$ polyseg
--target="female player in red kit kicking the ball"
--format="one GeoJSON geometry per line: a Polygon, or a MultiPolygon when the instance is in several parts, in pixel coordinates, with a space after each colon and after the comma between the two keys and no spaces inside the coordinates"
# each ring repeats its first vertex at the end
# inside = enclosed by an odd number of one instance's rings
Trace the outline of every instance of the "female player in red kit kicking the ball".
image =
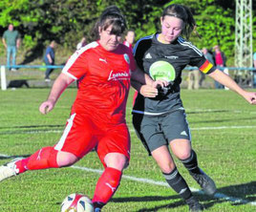
{"type": "Polygon", "coordinates": [[[0,167],[0,180],[27,170],[70,166],[96,148],[104,172],[97,180],[93,198],[100,211],[114,195],[122,170],[130,159],[130,135],[125,121],[130,79],[152,86],[148,96],[158,95],[157,84],[136,66],[131,50],[120,44],[125,19],[117,7],[102,12],[96,23],[97,41],[76,51],[53,84],[39,111],[47,114],[75,80],[78,92],[62,137],[31,157],[15,159],[0,167]]]}

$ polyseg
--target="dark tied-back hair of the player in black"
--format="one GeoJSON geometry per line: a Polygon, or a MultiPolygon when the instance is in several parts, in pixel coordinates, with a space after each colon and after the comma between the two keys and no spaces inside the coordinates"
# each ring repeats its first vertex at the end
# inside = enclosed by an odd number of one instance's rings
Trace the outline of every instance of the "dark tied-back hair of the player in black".
{"type": "Polygon", "coordinates": [[[164,18],[166,15],[178,17],[184,22],[184,28],[181,34],[187,39],[191,32],[196,30],[197,24],[189,8],[178,4],[172,4],[163,10],[161,17],[164,18]]]}

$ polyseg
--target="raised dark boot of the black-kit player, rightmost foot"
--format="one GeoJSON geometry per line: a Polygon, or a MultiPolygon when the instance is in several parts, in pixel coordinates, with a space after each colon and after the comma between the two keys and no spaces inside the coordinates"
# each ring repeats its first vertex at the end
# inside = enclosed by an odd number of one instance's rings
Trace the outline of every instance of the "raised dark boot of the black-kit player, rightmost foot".
{"type": "Polygon", "coordinates": [[[207,176],[202,169],[200,171],[200,174],[190,173],[190,175],[200,184],[206,195],[214,195],[217,190],[214,180],[207,176]]]}

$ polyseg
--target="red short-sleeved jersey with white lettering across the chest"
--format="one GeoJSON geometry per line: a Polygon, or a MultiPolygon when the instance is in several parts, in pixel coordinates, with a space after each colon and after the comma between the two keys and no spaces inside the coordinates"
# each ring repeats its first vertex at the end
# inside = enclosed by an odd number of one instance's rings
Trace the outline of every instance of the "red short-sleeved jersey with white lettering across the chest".
{"type": "Polygon", "coordinates": [[[132,52],[122,44],[115,52],[106,51],[98,42],[76,51],[62,70],[78,81],[72,113],[88,114],[96,122],[124,122],[135,69],[132,52]]]}

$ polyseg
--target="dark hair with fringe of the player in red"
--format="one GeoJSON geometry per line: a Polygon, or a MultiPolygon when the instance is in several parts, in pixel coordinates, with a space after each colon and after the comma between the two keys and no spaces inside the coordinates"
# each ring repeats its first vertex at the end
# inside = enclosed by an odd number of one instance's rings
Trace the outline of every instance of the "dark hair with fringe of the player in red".
{"type": "Polygon", "coordinates": [[[95,38],[99,38],[99,27],[105,31],[111,25],[113,26],[111,33],[119,36],[126,29],[125,18],[122,15],[121,11],[117,8],[117,6],[110,6],[102,11],[93,29],[93,35],[95,36],[95,38]]]}

